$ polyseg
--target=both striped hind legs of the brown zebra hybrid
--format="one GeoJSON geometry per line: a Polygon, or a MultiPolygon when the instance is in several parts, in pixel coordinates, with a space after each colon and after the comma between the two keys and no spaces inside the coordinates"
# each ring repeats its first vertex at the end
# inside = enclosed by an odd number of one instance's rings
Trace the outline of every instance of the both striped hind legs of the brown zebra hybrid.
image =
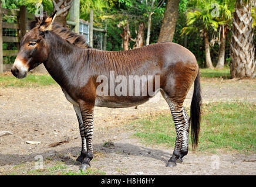
{"type": "MultiPolygon", "coordinates": [[[[188,121],[185,119],[183,101],[175,102],[173,101],[166,92],[161,91],[164,99],[168,103],[171,115],[176,129],[176,143],[173,151],[173,155],[167,163],[167,167],[176,166],[176,161],[182,162],[182,158],[187,154],[187,140],[188,140],[188,121]]],[[[186,112],[186,111],[185,111],[186,112]]]]}

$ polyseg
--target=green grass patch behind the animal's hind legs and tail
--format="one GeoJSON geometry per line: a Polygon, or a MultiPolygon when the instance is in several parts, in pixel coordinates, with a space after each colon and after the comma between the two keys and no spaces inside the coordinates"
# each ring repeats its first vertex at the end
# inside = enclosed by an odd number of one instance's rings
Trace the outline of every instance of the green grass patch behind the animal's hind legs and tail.
{"type": "MultiPolygon", "coordinates": [[[[176,131],[170,113],[155,119],[147,117],[137,120],[132,123],[132,128],[136,131],[135,136],[146,144],[174,147],[176,131]]],[[[218,149],[256,153],[255,103],[220,102],[203,105],[198,150],[213,153],[218,149]]]]}

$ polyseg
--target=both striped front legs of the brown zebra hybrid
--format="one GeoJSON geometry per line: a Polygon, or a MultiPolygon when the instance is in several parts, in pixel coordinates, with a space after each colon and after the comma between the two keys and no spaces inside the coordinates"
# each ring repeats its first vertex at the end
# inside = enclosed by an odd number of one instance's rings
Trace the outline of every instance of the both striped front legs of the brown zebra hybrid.
{"type": "Polygon", "coordinates": [[[82,150],[76,161],[82,163],[80,169],[90,167],[90,160],[93,158],[92,136],[93,136],[93,107],[87,105],[74,105],[78,116],[80,135],[82,139],[82,150]],[[82,106],[82,107],[81,107],[82,106]]]}

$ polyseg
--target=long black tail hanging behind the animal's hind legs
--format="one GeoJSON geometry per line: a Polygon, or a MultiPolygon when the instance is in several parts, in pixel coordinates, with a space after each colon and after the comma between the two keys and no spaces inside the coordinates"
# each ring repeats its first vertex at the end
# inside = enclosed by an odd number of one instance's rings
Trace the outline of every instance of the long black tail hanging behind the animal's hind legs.
{"type": "Polygon", "coordinates": [[[198,136],[200,133],[200,119],[201,119],[201,84],[200,84],[200,71],[198,69],[197,77],[194,81],[194,93],[190,106],[190,120],[191,120],[191,140],[192,148],[196,149],[198,144],[198,136]]]}

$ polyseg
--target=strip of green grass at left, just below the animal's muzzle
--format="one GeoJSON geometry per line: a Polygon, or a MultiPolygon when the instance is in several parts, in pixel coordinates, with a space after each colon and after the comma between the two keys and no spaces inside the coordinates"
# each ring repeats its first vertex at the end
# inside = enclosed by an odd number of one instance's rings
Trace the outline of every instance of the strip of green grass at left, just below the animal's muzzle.
{"type": "Polygon", "coordinates": [[[56,82],[50,75],[28,74],[28,76],[23,79],[18,79],[13,75],[0,75],[0,87],[37,87],[54,84],[56,84],[56,82]]]}

